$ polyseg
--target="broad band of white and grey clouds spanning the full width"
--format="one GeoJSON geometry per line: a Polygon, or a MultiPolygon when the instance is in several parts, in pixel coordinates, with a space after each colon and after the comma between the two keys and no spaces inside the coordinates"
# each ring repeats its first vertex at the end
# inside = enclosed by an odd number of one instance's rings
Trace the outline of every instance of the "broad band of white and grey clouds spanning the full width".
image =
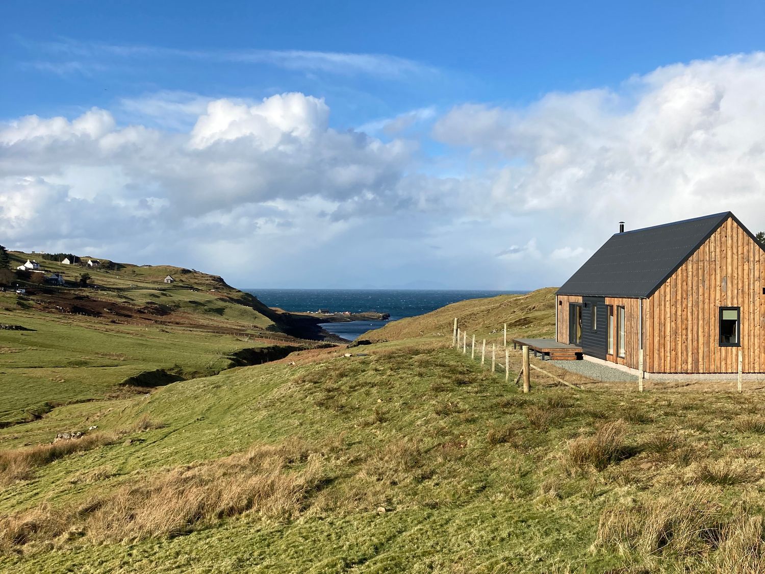
{"type": "Polygon", "coordinates": [[[327,102],[302,93],[148,94],[120,101],[127,125],[104,109],[27,116],[0,125],[0,235],[233,266],[240,285],[274,274],[277,286],[380,284],[382,272],[398,274],[386,284],[554,285],[620,220],[730,209],[765,228],[763,90],[765,54],[750,54],[522,108],[417,109],[358,131],[334,129],[327,102]],[[412,126],[431,123],[415,141],[412,126]]]}

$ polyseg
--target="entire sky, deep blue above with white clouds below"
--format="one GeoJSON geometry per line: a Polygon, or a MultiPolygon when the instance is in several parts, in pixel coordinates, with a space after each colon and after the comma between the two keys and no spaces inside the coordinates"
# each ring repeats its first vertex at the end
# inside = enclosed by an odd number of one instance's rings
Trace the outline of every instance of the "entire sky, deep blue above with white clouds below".
{"type": "Polygon", "coordinates": [[[765,227],[762,2],[2,11],[11,246],[240,286],[522,289],[620,219],[765,227]]]}

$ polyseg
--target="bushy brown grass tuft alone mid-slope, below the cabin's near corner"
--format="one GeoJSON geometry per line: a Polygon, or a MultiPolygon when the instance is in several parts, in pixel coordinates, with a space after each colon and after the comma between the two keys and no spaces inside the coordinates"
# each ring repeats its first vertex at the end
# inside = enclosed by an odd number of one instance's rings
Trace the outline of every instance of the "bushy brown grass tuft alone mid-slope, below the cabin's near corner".
{"type": "Polygon", "coordinates": [[[566,463],[576,470],[595,468],[602,471],[630,455],[624,441],[627,424],[623,420],[605,422],[592,436],[580,436],[568,442],[566,463]]]}

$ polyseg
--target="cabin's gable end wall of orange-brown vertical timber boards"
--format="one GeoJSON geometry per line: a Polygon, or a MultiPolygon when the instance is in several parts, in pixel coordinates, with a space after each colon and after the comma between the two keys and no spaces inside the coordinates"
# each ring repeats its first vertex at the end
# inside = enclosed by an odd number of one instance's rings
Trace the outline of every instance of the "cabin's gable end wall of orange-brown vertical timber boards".
{"type": "Polygon", "coordinates": [[[732,218],[643,304],[652,373],[765,372],[765,252],[732,218]],[[720,307],[741,308],[741,347],[720,347],[720,307]]]}

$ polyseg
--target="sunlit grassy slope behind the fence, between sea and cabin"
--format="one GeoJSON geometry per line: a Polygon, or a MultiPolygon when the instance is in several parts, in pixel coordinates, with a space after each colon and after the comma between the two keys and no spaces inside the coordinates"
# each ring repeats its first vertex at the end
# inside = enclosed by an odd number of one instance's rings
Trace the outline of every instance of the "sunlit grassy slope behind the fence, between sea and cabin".
{"type": "Polygon", "coordinates": [[[454,318],[460,328],[480,338],[496,338],[507,324],[507,337],[552,337],[555,335],[555,288],[537,289],[526,295],[468,299],[446,305],[425,315],[393,321],[359,339],[399,341],[407,338],[451,339],[454,318]]]}

